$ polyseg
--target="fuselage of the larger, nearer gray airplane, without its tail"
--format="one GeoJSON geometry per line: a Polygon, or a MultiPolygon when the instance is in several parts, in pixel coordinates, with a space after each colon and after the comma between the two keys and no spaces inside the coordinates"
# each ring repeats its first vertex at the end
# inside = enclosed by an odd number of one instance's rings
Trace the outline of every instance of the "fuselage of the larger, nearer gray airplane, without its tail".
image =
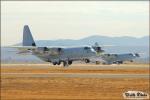
{"type": "Polygon", "coordinates": [[[91,47],[53,48],[53,50],[38,47],[33,49],[32,53],[44,61],[52,62],[54,65],[59,65],[61,62],[72,64],[72,61],[86,60],[86,58],[96,55],[91,47]]]}

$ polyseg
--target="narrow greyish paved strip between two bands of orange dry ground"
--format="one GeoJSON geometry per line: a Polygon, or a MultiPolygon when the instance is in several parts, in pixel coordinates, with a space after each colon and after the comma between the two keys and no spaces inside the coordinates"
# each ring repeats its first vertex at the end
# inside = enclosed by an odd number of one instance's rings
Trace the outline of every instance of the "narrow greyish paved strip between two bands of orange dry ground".
{"type": "Polygon", "coordinates": [[[149,78],[149,74],[102,74],[102,73],[1,73],[5,77],[24,78],[149,78]]]}

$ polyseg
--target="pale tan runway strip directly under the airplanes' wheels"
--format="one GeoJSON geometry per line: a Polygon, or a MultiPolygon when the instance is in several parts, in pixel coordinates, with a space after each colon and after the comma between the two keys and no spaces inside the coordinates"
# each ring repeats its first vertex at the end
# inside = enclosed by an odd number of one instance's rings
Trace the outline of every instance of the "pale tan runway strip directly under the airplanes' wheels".
{"type": "Polygon", "coordinates": [[[54,69],[86,69],[86,70],[101,70],[101,69],[106,69],[106,70],[116,70],[116,69],[146,69],[149,70],[149,65],[148,64],[112,64],[112,65],[93,65],[93,64],[73,64],[69,67],[63,67],[63,66],[54,66],[51,64],[2,64],[2,68],[32,68],[32,69],[37,69],[37,68],[42,68],[42,69],[47,69],[47,68],[54,68],[54,69]]]}

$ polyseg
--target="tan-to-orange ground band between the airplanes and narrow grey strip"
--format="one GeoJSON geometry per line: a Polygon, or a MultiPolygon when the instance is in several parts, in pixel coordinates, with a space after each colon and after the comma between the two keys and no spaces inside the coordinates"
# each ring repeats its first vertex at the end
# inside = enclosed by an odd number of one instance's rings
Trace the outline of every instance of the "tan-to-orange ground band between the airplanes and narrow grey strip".
{"type": "Polygon", "coordinates": [[[148,64],[93,65],[74,64],[70,67],[50,64],[2,64],[3,73],[116,73],[149,74],[148,64]]]}

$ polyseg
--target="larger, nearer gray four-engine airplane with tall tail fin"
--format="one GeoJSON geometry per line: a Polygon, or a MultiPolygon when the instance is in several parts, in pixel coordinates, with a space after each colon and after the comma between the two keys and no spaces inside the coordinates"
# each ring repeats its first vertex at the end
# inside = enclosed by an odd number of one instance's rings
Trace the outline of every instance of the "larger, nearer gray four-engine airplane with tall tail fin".
{"type": "MultiPolygon", "coordinates": [[[[28,25],[25,25],[23,29],[22,45],[22,47],[17,47],[20,50],[19,54],[30,52],[46,62],[53,63],[53,65],[63,63],[63,66],[71,65],[73,61],[77,60],[84,60],[88,63],[90,61],[87,58],[95,56],[94,49],[97,49],[90,46],[70,48],[36,46],[28,25]]],[[[97,50],[101,51],[100,48],[97,50]]]]}

